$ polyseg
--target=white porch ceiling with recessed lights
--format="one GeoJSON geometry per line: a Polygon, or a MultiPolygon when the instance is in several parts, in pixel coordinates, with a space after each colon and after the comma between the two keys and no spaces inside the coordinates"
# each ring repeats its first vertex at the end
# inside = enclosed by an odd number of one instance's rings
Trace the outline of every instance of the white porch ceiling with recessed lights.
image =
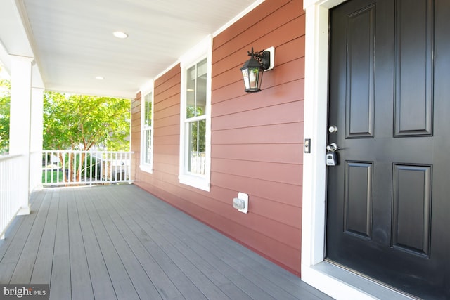
{"type": "Polygon", "coordinates": [[[34,85],[47,90],[134,98],[262,1],[1,0],[0,60],[9,69],[10,55],[34,57],[34,85]],[[117,39],[117,30],[129,37],[117,39]]]}

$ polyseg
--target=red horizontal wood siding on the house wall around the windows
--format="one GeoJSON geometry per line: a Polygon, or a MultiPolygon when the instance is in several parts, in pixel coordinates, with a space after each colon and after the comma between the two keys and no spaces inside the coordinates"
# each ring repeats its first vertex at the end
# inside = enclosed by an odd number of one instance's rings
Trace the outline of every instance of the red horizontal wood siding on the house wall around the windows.
{"type": "MultiPolygon", "coordinates": [[[[207,193],[179,183],[180,67],[155,80],[153,174],[136,185],[300,275],[304,11],[299,0],[266,0],[213,40],[212,162],[207,193]],[[240,67],[252,46],[275,47],[262,92],[245,93],[240,67]],[[249,194],[249,212],[231,203],[249,194]]],[[[139,159],[140,94],[131,147],[139,159]]]]}

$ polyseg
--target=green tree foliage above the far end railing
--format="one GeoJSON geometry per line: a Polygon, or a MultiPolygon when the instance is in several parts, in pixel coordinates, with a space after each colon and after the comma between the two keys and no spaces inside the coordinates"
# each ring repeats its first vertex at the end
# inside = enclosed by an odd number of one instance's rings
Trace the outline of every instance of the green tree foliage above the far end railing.
{"type": "Polygon", "coordinates": [[[130,100],[44,93],[44,149],[129,151],[130,100]]]}

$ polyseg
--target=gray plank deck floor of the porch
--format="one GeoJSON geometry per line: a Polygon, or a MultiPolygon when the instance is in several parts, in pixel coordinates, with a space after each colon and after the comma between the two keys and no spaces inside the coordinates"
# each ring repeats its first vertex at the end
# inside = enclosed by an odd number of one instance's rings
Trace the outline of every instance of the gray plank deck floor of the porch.
{"type": "Polygon", "coordinates": [[[0,240],[0,284],[50,299],[330,299],[134,185],[32,195],[0,240]]]}

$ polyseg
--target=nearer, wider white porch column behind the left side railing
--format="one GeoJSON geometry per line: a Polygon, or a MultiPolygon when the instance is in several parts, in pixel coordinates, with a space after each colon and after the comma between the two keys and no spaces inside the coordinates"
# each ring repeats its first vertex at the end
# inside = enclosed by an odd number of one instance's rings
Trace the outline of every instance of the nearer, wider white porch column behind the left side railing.
{"type": "Polygon", "coordinates": [[[23,155],[23,179],[15,183],[20,214],[30,214],[31,84],[34,58],[11,56],[11,108],[9,152],[23,155]]]}

